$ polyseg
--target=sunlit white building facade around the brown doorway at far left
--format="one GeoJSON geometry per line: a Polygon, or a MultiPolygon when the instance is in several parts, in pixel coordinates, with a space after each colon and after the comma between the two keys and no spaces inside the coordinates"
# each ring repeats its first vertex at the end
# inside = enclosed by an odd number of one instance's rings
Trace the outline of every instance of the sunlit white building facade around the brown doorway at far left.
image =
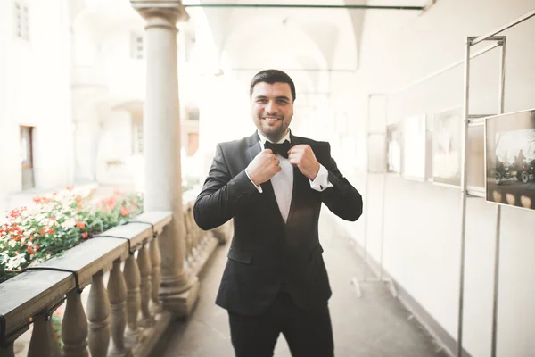
{"type": "Polygon", "coordinates": [[[29,1],[29,41],[16,37],[14,4],[0,4],[2,195],[21,190],[20,125],[35,127],[36,187],[70,183],[70,32],[65,2],[29,1]]]}

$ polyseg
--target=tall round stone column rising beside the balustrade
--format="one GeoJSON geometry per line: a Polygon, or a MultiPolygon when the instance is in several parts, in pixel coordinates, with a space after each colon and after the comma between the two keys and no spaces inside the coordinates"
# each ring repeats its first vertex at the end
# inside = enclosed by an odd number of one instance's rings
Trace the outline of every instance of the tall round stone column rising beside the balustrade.
{"type": "Polygon", "coordinates": [[[158,238],[160,299],[164,309],[186,317],[199,294],[199,281],[185,266],[185,228],[180,170],[177,21],[188,15],[177,0],[130,0],[145,27],[147,92],[144,106],[144,210],[172,211],[174,219],[158,238]]]}

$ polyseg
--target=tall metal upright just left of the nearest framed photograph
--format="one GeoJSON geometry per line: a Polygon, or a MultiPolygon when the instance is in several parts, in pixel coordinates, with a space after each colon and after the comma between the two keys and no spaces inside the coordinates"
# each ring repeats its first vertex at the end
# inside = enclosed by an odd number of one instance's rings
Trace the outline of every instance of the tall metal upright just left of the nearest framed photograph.
{"type": "Polygon", "coordinates": [[[466,237],[466,139],[468,133],[468,112],[469,112],[469,96],[470,96],[470,46],[473,38],[466,37],[465,41],[465,97],[463,99],[464,114],[463,114],[463,131],[462,131],[462,165],[461,165],[461,256],[460,256],[460,276],[459,276],[459,311],[457,322],[457,357],[463,356],[463,313],[465,307],[465,237],[466,237]]]}

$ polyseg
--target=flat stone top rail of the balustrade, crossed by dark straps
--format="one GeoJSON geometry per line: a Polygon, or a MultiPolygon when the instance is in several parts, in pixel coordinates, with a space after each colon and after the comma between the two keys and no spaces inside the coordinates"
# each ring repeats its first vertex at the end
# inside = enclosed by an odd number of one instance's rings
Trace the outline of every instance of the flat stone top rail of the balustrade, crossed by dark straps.
{"type": "MultiPolygon", "coordinates": [[[[151,222],[154,229],[161,232],[172,220],[172,213],[147,212],[139,215],[136,220],[151,222]]],[[[128,224],[108,229],[103,235],[127,237],[134,250],[152,239],[152,227],[147,224],[128,224]]],[[[97,271],[110,270],[112,262],[127,257],[128,242],[125,240],[92,238],[70,248],[61,257],[53,257],[38,266],[77,271],[79,285],[83,288],[91,283],[91,278],[97,271]]],[[[51,309],[75,287],[75,278],[70,272],[51,270],[27,271],[4,281],[0,284],[0,314],[5,318],[5,330],[0,331],[0,343],[3,342],[3,336],[27,329],[29,317],[51,309]]]]}

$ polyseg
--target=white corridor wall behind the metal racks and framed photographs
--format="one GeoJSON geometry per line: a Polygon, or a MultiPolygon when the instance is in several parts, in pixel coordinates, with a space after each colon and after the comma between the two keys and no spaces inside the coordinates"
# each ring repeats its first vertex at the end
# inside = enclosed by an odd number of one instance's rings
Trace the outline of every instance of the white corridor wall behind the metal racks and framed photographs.
{"type": "MultiPolygon", "coordinates": [[[[368,4],[385,4],[372,1],[368,4]]],[[[393,90],[432,71],[460,61],[466,36],[481,36],[531,11],[527,0],[440,0],[428,12],[369,11],[365,14],[355,82],[336,87],[335,96],[350,90],[357,138],[350,179],[364,191],[367,95],[393,90]],[[354,176],[353,176],[354,175],[354,176]]],[[[535,19],[502,35],[507,37],[505,111],[535,107],[535,19]]],[[[485,45],[483,45],[485,46],[485,45]]],[[[475,47],[474,50],[482,48],[475,47]]],[[[471,113],[495,113],[498,103],[498,54],[472,62],[471,113]]],[[[462,105],[462,69],[449,71],[410,90],[392,95],[388,122],[408,115],[432,115],[462,105]]],[[[383,120],[372,129],[383,130],[383,120]]],[[[469,170],[473,170],[470,169],[469,170]]],[[[457,339],[461,195],[458,189],[384,177],[384,267],[424,309],[457,339]]],[[[365,197],[368,248],[379,261],[383,176],[369,178],[365,197]]],[[[498,356],[535,355],[535,228],[534,212],[502,209],[498,356]]],[[[465,349],[473,356],[490,355],[493,258],[496,207],[480,198],[467,201],[465,267],[465,349]]],[[[364,220],[344,224],[362,244],[364,220]]]]}

